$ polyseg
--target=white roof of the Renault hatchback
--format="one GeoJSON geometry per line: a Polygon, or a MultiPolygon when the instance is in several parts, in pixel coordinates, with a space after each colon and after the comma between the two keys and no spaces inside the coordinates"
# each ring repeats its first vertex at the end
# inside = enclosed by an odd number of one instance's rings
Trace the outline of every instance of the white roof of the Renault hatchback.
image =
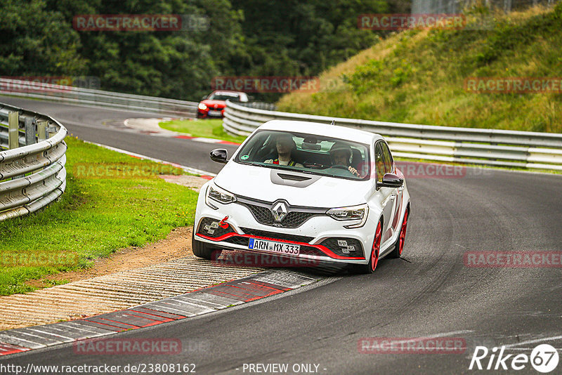
{"type": "Polygon", "coordinates": [[[329,136],[344,140],[352,140],[357,143],[369,144],[373,143],[375,140],[383,139],[380,134],[371,133],[370,131],[310,121],[271,120],[262,124],[259,129],[316,134],[318,136],[329,136]]]}

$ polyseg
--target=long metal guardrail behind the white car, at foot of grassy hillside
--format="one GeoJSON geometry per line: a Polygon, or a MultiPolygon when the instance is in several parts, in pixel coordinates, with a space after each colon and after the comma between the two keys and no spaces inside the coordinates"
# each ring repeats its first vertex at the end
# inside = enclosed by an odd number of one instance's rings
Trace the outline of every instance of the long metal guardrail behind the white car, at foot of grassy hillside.
{"type": "Polygon", "coordinates": [[[223,128],[247,136],[273,119],[336,124],[379,133],[396,157],[562,171],[562,134],[399,124],[257,110],[227,101],[223,128]]]}

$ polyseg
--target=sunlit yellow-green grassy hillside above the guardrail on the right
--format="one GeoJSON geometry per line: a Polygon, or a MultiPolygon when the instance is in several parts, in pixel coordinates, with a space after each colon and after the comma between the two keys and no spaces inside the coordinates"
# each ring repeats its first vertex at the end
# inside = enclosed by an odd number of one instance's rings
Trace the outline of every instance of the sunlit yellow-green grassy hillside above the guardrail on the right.
{"type": "Polygon", "coordinates": [[[468,77],[562,77],[562,4],[497,16],[485,30],[407,30],[291,93],[279,110],[412,124],[562,132],[562,95],[473,93],[468,77]]]}

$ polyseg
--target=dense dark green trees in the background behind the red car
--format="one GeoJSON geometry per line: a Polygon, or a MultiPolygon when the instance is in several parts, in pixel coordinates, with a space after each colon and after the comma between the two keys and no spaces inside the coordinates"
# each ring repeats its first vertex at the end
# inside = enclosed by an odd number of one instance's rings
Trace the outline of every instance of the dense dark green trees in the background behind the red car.
{"type": "MultiPolygon", "coordinates": [[[[361,13],[403,0],[4,0],[1,76],[92,76],[110,91],[198,100],[228,75],[313,75],[377,40],[361,13]],[[76,15],[207,17],[206,30],[77,31],[76,15]]],[[[391,4],[391,5],[389,5],[391,4]]]]}

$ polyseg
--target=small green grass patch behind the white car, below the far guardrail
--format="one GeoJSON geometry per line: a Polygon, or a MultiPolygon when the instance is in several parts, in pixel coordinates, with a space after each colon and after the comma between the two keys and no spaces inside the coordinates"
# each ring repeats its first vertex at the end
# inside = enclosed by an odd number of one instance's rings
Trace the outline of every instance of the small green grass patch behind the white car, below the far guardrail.
{"type": "Polygon", "coordinates": [[[193,137],[215,138],[234,143],[242,143],[246,139],[226,133],[221,119],[173,120],[160,122],[159,125],[162,129],[187,133],[193,137]]]}

